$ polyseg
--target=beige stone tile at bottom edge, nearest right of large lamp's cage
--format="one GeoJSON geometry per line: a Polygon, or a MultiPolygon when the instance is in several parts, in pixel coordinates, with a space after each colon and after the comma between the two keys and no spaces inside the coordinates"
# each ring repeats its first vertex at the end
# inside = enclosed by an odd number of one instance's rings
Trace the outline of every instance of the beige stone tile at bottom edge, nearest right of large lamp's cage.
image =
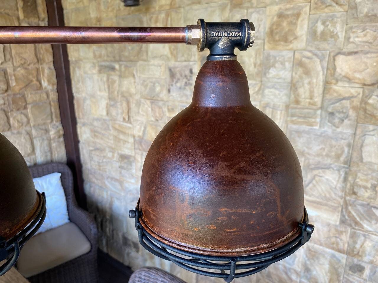
{"type": "Polygon", "coordinates": [[[307,282],[341,282],[345,261],[344,254],[307,243],[301,278],[307,282]]]}

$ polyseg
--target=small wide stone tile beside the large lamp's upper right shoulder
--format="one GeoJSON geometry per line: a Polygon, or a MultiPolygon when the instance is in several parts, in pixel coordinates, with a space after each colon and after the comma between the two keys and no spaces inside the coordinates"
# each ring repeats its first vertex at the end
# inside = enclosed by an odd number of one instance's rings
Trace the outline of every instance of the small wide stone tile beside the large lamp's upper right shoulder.
{"type": "Polygon", "coordinates": [[[316,106],[290,105],[288,123],[318,128],[320,112],[320,108],[316,106]]]}

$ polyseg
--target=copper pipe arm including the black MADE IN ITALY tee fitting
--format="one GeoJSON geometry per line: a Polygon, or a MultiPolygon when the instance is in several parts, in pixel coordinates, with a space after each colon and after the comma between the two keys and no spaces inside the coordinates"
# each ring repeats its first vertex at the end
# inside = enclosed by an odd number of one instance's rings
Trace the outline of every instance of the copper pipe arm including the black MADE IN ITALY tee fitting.
{"type": "Polygon", "coordinates": [[[208,60],[236,60],[234,49],[244,51],[255,40],[255,28],[247,19],[230,23],[206,23],[185,27],[79,27],[0,26],[0,44],[9,43],[186,43],[198,51],[210,50],[208,60]]]}

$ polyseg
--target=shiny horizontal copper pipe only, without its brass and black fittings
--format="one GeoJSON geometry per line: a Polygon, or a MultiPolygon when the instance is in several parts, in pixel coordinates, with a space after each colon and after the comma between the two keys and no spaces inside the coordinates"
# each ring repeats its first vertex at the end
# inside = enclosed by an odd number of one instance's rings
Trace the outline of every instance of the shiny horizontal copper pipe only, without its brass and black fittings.
{"type": "Polygon", "coordinates": [[[1,26],[0,43],[186,43],[187,27],[1,26]]]}

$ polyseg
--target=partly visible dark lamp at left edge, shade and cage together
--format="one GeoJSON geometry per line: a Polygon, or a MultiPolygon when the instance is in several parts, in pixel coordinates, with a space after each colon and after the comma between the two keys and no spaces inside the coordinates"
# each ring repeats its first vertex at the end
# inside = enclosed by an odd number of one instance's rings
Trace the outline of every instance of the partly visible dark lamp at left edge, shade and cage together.
{"type": "Polygon", "coordinates": [[[20,248],[46,217],[45,196],[34,187],[21,153],[0,134],[0,276],[17,261],[20,248]]]}

